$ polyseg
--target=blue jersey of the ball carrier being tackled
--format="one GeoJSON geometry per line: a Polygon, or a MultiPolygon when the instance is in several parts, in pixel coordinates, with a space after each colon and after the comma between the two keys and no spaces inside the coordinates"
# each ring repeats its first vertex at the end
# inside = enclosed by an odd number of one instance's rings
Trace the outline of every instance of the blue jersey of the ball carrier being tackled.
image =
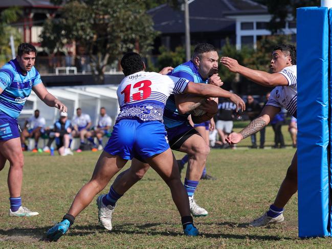
{"type": "MultiPolygon", "coordinates": [[[[168,75],[185,78],[195,83],[208,83],[208,79],[203,79],[198,73],[195,64],[189,60],[186,63],[178,65],[168,75]]],[[[175,105],[174,95],[169,96],[164,111],[164,124],[166,128],[173,128],[187,122],[188,114],[180,114],[175,105]]]]}

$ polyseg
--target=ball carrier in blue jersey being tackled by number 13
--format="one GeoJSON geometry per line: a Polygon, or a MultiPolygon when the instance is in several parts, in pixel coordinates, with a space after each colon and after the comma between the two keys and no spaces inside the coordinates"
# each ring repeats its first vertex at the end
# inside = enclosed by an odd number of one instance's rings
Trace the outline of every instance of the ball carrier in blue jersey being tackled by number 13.
{"type": "MultiPolygon", "coordinates": [[[[223,84],[217,75],[218,53],[208,43],[196,46],[192,59],[175,67],[168,75],[185,78],[195,83],[210,83],[216,86],[223,84]],[[210,77],[211,76],[211,77],[210,77]]],[[[231,100],[232,101],[232,100],[231,100]]],[[[193,198],[194,192],[205,168],[210,147],[202,136],[189,124],[189,112],[200,106],[207,111],[203,116],[192,116],[195,124],[200,124],[217,113],[217,102],[200,96],[175,94],[167,99],[163,120],[166,127],[170,148],[188,154],[189,161],[184,185],[190,203],[191,214],[195,217],[206,216],[208,212],[197,205],[193,198]]],[[[131,186],[140,180],[149,169],[137,159],[132,160],[128,170],[122,172],[111,187],[111,192],[119,199],[131,186]],[[122,185],[118,179],[123,178],[122,185]]],[[[116,201],[114,201],[115,204],[116,201]]]]}

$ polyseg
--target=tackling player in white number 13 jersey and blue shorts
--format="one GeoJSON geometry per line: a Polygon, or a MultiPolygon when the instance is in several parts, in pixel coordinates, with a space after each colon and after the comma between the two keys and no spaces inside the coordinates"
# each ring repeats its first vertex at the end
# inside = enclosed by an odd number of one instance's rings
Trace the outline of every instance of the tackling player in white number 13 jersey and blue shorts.
{"type": "MultiPolygon", "coordinates": [[[[226,97],[237,107],[244,109],[244,101],[237,95],[208,84],[190,82],[184,78],[144,72],[145,65],[137,53],[127,53],[121,59],[126,76],[120,83],[117,95],[120,113],[96,164],[90,182],[77,193],[71,208],[62,221],[47,232],[50,240],[57,240],[74,223],[75,217],[85,209],[96,194],[105,188],[109,180],[133,157],[146,161],[163,178],[170,188],[173,201],[181,215],[184,233],[198,235],[193,226],[187,192],[181,182],[178,165],[169,147],[163,124],[163,112],[170,94],[189,93],[206,97],[226,97]]],[[[167,69],[166,69],[167,70],[167,69]]],[[[120,179],[123,184],[123,179],[120,179]]],[[[97,199],[99,221],[112,230],[114,193],[100,195],[97,199]]]]}

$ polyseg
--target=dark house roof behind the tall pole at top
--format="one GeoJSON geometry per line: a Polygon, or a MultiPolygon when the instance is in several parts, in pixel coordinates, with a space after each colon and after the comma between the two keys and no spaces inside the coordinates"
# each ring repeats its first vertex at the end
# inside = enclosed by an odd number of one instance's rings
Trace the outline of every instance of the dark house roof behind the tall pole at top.
{"type": "MultiPolygon", "coordinates": [[[[154,21],[154,29],[162,33],[184,33],[184,11],[167,4],[147,11],[154,21]]],[[[268,14],[266,6],[251,0],[191,0],[189,1],[190,32],[228,32],[235,29],[235,21],[228,15],[268,14]]]]}

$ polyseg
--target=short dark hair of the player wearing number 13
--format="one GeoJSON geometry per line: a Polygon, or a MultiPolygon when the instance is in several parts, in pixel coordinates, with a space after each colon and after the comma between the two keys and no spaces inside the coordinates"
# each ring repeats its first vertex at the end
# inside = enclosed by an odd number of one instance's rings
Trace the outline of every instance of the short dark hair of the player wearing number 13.
{"type": "Polygon", "coordinates": [[[142,57],[135,52],[126,53],[122,57],[120,64],[125,76],[144,70],[144,62],[142,61],[142,57]]]}

